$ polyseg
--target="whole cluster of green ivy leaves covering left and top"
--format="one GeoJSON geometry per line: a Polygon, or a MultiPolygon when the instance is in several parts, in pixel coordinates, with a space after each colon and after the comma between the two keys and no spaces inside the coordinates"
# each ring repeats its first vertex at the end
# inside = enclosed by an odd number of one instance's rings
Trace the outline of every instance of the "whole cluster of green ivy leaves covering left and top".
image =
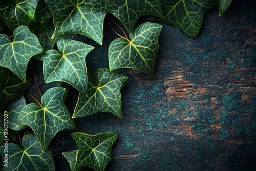
{"type": "MultiPolygon", "coordinates": [[[[157,22],[174,24],[195,37],[205,11],[220,5],[222,15],[230,3],[231,0],[1,0],[0,32],[12,33],[0,34],[0,143],[9,139],[8,167],[5,145],[0,147],[1,169],[55,170],[48,146],[57,132],[75,129],[73,118],[96,112],[122,118],[120,89],[127,77],[114,70],[130,68],[150,76],[155,72],[162,26],[149,22],[135,26],[140,16],[153,15],[157,22]],[[73,40],[70,35],[87,36],[101,45],[103,20],[108,13],[123,24],[129,36],[117,33],[120,38],[109,45],[109,68],[91,73],[85,58],[94,47],[73,40]],[[66,89],[62,87],[47,90],[40,100],[35,99],[37,103],[26,103],[24,93],[33,80],[27,76],[31,58],[43,62],[46,83],[66,82],[79,91],[73,115],[63,103],[66,89]],[[8,135],[4,130],[7,118],[8,135]],[[28,127],[31,131],[24,133],[19,145],[11,143],[18,132],[28,127]]],[[[72,170],[83,166],[104,170],[112,161],[115,133],[73,133],[72,137],[78,149],[63,153],[72,170]]]]}

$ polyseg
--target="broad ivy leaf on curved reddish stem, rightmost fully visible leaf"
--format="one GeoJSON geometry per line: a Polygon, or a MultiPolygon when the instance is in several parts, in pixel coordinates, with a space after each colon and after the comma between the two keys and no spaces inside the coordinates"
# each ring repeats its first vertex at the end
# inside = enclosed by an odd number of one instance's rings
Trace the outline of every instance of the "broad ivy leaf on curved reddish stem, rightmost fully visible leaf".
{"type": "Polygon", "coordinates": [[[132,68],[153,76],[162,26],[143,23],[130,34],[131,40],[117,38],[109,47],[110,70],[132,68]]]}

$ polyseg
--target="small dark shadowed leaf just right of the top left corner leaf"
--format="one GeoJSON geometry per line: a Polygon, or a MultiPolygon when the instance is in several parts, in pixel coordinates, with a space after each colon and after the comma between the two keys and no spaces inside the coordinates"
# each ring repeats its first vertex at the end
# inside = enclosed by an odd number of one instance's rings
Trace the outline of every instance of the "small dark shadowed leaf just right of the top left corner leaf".
{"type": "Polygon", "coordinates": [[[47,6],[44,0],[38,1],[35,10],[35,16],[36,20],[39,21],[40,24],[43,24],[48,19],[52,18],[52,12],[50,11],[49,7],[47,6]]]}

